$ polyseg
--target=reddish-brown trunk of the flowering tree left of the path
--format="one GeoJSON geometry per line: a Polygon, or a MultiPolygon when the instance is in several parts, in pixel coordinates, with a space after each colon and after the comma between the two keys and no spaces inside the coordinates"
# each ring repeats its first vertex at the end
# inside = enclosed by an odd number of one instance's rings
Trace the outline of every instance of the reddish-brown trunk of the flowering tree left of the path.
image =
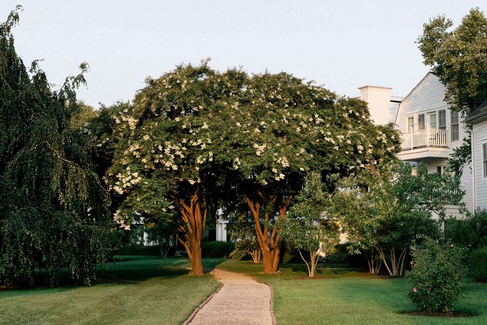
{"type": "Polygon", "coordinates": [[[191,260],[190,276],[203,276],[203,265],[201,264],[201,240],[203,239],[203,231],[205,230],[206,217],[208,215],[208,208],[203,198],[203,215],[201,214],[201,205],[198,197],[198,191],[193,194],[189,205],[182,199],[174,201],[179,203],[182,224],[179,226],[179,232],[183,234],[181,238],[178,236],[179,242],[184,246],[188,257],[191,260]]]}

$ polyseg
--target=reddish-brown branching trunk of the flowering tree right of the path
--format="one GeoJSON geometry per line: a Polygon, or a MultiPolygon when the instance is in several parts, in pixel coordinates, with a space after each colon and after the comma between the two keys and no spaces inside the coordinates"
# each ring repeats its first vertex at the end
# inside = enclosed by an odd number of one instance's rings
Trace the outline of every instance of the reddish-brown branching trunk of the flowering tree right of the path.
{"type": "MultiPolygon", "coordinates": [[[[259,194],[263,199],[262,194],[259,194]]],[[[265,201],[261,205],[260,202],[253,202],[248,197],[245,198],[248,207],[251,209],[253,219],[255,221],[255,234],[259,242],[260,250],[262,252],[262,264],[264,266],[264,273],[273,274],[277,273],[277,267],[279,266],[279,254],[281,252],[281,236],[277,232],[277,228],[272,228],[272,232],[269,233],[269,221],[270,211],[267,208],[264,210],[265,220],[260,220],[260,208],[262,206],[273,206],[276,201],[276,196],[272,196],[270,200],[265,201]]],[[[286,203],[279,206],[279,219],[286,218],[287,205],[291,201],[291,196],[287,199],[286,203]]]]}

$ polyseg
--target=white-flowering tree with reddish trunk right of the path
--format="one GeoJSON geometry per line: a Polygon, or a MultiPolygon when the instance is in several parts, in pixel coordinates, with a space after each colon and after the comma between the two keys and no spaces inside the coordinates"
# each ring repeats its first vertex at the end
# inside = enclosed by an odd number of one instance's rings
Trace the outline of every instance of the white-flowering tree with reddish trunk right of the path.
{"type": "Polygon", "coordinates": [[[223,103],[225,150],[217,160],[230,167],[227,180],[253,215],[265,273],[275,273],[281,244],[275,221],[286,218],[306,174],[322,172],[333,187],[332,175],[394,159],[399,139],[373,125],[365,102],[337,98],[287,73],[247,77],[239,92],[223,103]]]}

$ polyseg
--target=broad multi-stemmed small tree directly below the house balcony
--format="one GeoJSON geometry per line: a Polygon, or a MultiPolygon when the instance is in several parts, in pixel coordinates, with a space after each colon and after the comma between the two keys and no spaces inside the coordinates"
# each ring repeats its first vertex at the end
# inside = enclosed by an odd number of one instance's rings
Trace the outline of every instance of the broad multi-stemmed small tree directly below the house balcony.
{"type": "Polygon", "coordinates": [[[419,165],[415,173],[402,162],[368,169],[343,179],[332,196],[330,213],[344,216],[344,232],[352,253],[368,252],[369,271],[384,265],[391,276],[402,276],[411,244],[424,236],[438,237],[447,204],[461,204],[458,177],[428,173],[419,165]],[[379,264],[377,257],[380,258],[379,264]]]}

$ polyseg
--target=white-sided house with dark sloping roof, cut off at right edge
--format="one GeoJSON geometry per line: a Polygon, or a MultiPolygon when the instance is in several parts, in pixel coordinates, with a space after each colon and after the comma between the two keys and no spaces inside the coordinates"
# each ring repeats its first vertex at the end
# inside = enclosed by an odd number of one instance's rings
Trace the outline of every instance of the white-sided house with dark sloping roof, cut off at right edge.
{"type": "Polygon", "coordinates": [[[471,165],[474,208],[487,209],[487,100],[464,120],[471,124],[471,165]]]}

